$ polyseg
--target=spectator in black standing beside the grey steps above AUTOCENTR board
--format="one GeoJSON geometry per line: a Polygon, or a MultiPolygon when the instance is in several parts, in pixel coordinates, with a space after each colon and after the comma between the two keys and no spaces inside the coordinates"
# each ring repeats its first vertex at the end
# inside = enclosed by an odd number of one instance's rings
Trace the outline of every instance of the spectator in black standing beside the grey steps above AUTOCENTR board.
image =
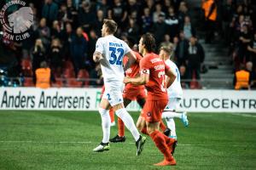
{"type": "Polygon", "coordinates": [[[189,79],[195,78],[200,80],[201,63],[205,59],[205,52],[195,37],[190,37],[189,47],[186,50],[186,63],[188,68],[189,79]]]}

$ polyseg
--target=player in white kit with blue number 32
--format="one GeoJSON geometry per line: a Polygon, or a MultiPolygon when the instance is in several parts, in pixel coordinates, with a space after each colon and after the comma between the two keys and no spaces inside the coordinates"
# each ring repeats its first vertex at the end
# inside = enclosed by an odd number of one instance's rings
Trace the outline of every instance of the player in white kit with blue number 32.
{"type": "Polygon", "coordinates": [[[102,37],[97,40],[96,50],[93,54],[94,61],[100,62],[102,66],[102,76],[105,85],[105,92],[99,109],[102,117],[103,139],[102,143],[94,151],[109,150],[110,116],[108,111],[111,105],[115,114],[125,123],[125,127],[130,130],[134,137],[138,156],[143,150],[146,138],[140,135],[133,119],[125,110],[122,96],[125,71],[135,62],[136,56],[124,41],[113,36],[116,30],[117,24],[114,20],[104,20],[102,37]],[[125,55],[129,59],[124,68],[123,58],[125,55]]]}

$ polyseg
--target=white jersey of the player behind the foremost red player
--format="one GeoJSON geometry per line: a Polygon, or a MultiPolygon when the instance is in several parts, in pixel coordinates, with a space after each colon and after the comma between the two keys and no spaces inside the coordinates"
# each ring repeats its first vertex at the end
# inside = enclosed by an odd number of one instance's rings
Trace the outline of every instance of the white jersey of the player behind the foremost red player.
{"type": "Polygon", "coordinates": [[[168,98],[183,98],[183,88],[181,87],[180,84],[180,74],[177,68],[177,65],[175,65],[175,63],[173,63],[170,59],[167,59],[166,61],[166,65],[168,65],[172,72],[175,73],[176,79],[174,80],[174,82],[172,82],[172,85],[167,88],[167,94],[168,94],[168,98]]]}

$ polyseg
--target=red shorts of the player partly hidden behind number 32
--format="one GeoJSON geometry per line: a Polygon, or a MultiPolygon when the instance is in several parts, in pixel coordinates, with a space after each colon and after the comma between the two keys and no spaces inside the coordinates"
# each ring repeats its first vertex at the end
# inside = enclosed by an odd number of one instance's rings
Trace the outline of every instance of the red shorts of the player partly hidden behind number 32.
{"type": "Polygon", "coordinates": [[[124,99],[146,99],[146,92],[145,88],[126,88],[123,91],[123,98],[124,99]]]}

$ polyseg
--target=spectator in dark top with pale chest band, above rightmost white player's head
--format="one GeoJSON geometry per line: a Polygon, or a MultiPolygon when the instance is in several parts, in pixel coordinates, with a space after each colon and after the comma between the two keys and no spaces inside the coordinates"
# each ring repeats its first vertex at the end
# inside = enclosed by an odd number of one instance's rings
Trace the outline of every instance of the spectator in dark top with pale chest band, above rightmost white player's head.
{"type": "Polygon", "coordinates": [[[167,30],[168,30],[168,34],[170,35],[171,39],[173,39],[173,37],[177,36],[178,34],[178,20],[177,20],[177,16],[174,12],[174,8],[171,6],[168,8],[168,14],[166,15],[166,25],[167,25],[167,30]]]}

